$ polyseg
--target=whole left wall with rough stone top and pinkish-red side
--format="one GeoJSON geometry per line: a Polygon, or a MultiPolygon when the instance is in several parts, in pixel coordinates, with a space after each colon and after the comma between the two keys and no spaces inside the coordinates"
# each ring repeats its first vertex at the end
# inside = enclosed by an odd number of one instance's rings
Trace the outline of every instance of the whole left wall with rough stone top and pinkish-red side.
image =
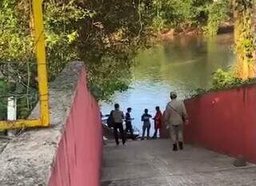
{"type": "Polygon", "coordinates": [[[102,130],[82,62],[70,63],[50,83],[50,118],[50,128],[27,129],[3,145],[1,186],[99,185],[102,130]]]}

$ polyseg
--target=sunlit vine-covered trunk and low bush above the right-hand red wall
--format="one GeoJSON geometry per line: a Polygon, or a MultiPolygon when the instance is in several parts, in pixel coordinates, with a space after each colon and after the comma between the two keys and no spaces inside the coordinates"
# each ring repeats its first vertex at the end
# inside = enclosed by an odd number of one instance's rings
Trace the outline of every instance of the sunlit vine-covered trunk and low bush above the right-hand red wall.
{"type": "Polygon", "coordinates": [[[234,52],[237,56],[237,62],[229,72],[218,69],[214,73],[211,90],[255,84],[256,25],[254,18],[256,18],[256,9],[254,4],[254,0],[233,1],[234,52]]]}

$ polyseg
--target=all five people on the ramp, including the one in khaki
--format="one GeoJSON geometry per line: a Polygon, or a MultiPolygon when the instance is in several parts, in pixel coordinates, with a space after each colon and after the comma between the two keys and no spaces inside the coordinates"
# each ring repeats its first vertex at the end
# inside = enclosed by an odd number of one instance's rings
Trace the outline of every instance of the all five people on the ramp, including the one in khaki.
{"type": "MultiPolygon", "coordinates": [[[[186,107],[183,101],[177,99],[177,93],[170,93],[170,102],[166,105],[166,110],[162,113],[160,108],[157,106],[155,116],[152,117],[149,114],[148,109],[144,110],[142,114],[142,140],[144,140],[145,133],[146,138],[150,139],[150,119],[154,120],[154,136],[153,139],[158,137],[159,129],[162,129],[163,124],[167,129],[170,130],[170,137],[173,141],[173,150],[177,151],[183,149],[183,125],[188,123],[188,117],[186,113],[186,107]]],[[[111,111],[109,122],[114,127],[114,138],[116,144],[119,144],[118,130],[122,137],[122,144],[126,144],[126,133],[130,133],[134,137],[132,121],[134,118],[130,116],[132,109],[128,108],[126,115],[120,110],[118,104],[114,105],[114,110],[111,111]],[[126,131],[123,129],[123,121],[126,122],[126,131]]]]}

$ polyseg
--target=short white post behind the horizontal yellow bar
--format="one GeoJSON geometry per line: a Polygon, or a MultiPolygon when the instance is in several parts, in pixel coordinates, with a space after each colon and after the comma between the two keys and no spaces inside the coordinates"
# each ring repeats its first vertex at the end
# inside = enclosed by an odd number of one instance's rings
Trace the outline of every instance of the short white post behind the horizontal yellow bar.
{"type": "MultiPolygon", "coordinates": [[[[8,121],[17,120],[17,100],[15,97],[8,97],[7,120],[8,121]]],[[[14,137],[16,135],[16,130],[15,129],[8,130],[7,135],[8,137],[14,137]]]]}

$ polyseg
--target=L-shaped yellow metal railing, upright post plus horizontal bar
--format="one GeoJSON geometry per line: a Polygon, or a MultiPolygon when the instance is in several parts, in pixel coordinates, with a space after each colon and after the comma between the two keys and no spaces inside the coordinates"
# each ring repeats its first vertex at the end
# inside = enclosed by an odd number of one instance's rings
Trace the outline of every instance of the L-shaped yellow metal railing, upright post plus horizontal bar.
{"type": "MultiPolygon", "coordinates": [[[[42,20],[42,0],[32,0],[35,52],[38,65],[38,90],[40,116],[32,120],[0,121],[0,130],[29,127],[47,127],[50,125],[50,112],[48,103],[48,81],[46,70],[45,34],[42,20]]],[[[11,103],[11,101],[10,101],[11,103]]]]}

